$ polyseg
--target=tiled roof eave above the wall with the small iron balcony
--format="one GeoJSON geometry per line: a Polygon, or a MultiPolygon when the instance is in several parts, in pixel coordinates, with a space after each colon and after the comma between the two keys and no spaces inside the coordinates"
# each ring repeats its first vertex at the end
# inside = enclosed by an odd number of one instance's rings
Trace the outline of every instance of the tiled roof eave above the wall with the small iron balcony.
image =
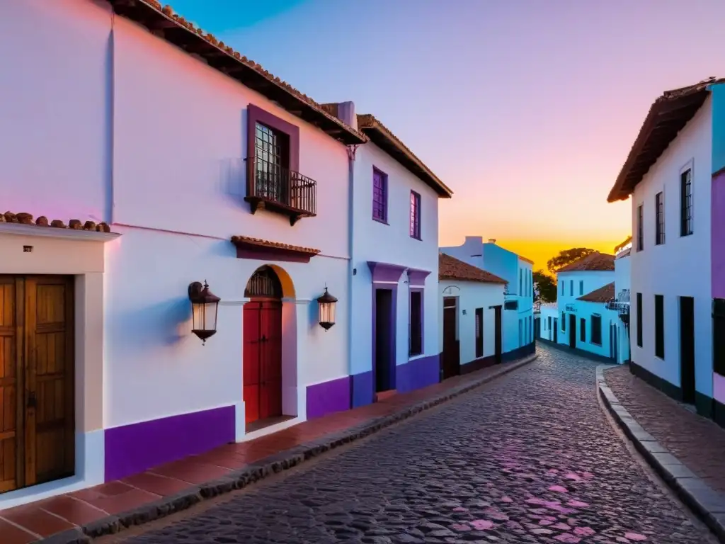
{"type": "Polygon", "coordinates": [[[202,57],[210,67],[239,81],[279,104],[292,115],[320,128],[342,144],[364,144],[368,139],[355,128],[324,111],[320,104],[306,94],[270,74],[256,62],[205,33],[170,6],[162,7],[156,0],[108,0],[113,11],[150,30],[154,36],[178,46],[189,55],[202,57]]]}

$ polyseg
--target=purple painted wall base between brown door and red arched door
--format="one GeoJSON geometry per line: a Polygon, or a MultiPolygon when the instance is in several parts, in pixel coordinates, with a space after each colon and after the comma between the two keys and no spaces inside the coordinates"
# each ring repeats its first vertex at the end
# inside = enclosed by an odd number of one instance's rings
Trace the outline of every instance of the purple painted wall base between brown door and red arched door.
{"type": "Polygon", "coordinates": [[[106,482],[235,440],[234,406],[106,429],[106,482]]]}

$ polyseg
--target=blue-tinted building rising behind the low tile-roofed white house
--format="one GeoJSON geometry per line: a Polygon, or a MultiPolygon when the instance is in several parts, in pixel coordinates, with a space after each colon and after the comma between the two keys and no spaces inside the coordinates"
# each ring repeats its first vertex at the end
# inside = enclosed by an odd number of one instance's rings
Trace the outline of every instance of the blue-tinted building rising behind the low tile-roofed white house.
{"type": "Polygon", "coordinates": [[[494,239],[484,243],[481,236],[466,236],[462,245],[442,247],[441,251],[505,279],[503,359],[510,360],[533,353],[533,261],[497,245],[494,239]]]}

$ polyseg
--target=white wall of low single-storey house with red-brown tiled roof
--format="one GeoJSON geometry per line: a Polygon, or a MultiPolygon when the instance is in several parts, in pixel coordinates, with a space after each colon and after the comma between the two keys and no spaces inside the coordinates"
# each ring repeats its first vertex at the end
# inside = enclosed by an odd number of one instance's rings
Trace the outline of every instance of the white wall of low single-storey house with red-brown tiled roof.
{"type": "MultiPolygon", "coordinates": [[[[481,357],[495,355],[496,329],[494,309],[491,307],[503,305],[503,285],[441,280],[439,282],[441,308],[444,297],[457,297],[456,329],[461,365],[476,360],[476,308],[484,309],[484,353],[481,357]]],[[[439,342],[443,344],[442,321],[439,326],[439,342]]]]}

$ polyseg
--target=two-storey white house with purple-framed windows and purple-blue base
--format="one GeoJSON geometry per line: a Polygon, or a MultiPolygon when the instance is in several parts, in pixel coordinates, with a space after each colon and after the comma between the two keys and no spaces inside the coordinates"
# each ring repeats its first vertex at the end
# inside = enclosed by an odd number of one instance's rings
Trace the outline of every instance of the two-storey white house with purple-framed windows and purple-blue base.
{"type": "Polygon", "coordinates": [[[351,102],[326,110],[370,140],[352,182],[350,379],[361,406],[439,382],[438,199],[452,192],[373,115],[351,102]]]}

